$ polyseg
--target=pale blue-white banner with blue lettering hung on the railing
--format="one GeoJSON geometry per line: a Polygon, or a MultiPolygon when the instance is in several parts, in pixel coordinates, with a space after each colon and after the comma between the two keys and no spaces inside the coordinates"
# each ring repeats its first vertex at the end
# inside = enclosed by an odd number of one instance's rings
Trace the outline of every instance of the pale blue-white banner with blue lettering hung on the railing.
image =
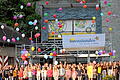
{"type": "Polygon", "coordinates": [[[99,50],[105,47],[105,34],[63,35],[62,41],[68,51],[99,50]]]}

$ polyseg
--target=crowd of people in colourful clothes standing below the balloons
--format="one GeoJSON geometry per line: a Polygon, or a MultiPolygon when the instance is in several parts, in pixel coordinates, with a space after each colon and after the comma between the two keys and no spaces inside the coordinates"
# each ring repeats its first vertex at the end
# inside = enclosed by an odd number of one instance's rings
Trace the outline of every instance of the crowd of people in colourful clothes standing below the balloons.
{"type": "Polygon", "coordinates": [[[120,61],[52,65],[45,63],[0,68],[0,80],[120,80],[120,61]]]}

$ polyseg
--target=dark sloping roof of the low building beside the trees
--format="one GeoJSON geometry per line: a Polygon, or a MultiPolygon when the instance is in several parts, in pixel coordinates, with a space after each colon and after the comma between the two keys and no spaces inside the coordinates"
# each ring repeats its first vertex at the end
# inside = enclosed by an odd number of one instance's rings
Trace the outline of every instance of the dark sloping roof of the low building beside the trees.
{"type": "Polygon", "coordinates": [[[12,44],[29,44],[30,41],[27,38],[22,38],[21,34],[17,31],[15,31],[12,27],[7,26],[4,23],[0,23],[0,43],[8,43],[7,40],[4,41],[2,38],[3,36],[6,36],[7,39],[17,38],[19,37],[20,40],[16,42],[10,41],[9,43],[12,44]],[[1,25],[4,25],[4,29],[1,28],[1,25]]]}

